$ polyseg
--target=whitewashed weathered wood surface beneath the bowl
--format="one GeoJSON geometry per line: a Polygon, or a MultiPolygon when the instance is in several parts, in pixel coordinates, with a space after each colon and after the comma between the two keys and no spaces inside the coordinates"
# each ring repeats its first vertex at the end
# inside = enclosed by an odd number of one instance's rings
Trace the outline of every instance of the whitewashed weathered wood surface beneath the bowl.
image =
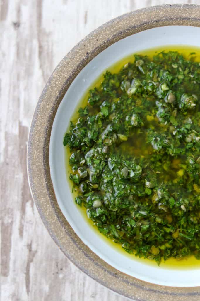
{"type": "Polygon", "coordinates": [[[58,249],[31,199],[28,128],[48,77],[65,54],[106,21],[145,6],[200,1],[1,0],[1,301],[125,301],[58,249]]]}

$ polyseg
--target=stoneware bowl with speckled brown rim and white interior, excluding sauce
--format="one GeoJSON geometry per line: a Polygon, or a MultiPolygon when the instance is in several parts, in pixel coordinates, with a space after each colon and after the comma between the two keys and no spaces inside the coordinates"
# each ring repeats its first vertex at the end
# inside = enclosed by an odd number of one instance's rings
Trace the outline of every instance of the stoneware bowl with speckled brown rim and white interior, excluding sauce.
{"type": "Polygon", "coordinates": [[[200,6],[161,5],[122,15],[77,44],[50,76],[28,139],[33,199],[53,240],[83,272],[134,300],[196,300],[200,268],[157,266],[119,252],[94,231],[71,194],[64,132],[91,83],[112,64],[152,47],[200,47],[200,6]]]}

